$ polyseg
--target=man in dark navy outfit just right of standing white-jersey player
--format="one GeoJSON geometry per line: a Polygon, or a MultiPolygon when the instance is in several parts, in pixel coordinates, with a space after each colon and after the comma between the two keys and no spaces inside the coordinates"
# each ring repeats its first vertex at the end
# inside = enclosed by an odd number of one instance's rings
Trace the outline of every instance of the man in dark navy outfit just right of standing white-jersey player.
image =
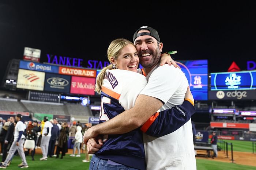
{"type": "Polygon", "coordinates": [[[60,134],[60,129],[57,126],[57,120],[53,119],[52,120],[52,136],[50,138],[50,142],[49,142],[49,149],[48,149],[48,156],[50,158],[52,158],[52,155],[54,155],[54,149],[55,149],[55,142],[57,140],[57,138],[59,137],[60,134]]]}

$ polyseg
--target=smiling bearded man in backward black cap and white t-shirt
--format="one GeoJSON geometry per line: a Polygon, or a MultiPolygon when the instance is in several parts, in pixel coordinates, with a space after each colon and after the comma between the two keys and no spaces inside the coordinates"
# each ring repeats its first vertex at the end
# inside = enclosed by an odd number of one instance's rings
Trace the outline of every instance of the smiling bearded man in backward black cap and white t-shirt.
{"type": "MultiPolygon", "coordinates": [[[[174,66],[159,67],[163,43],[158,32],[143,26],[133,35],[133,43],[148,84],[139,94],[132,109],[87,130],[84,134],[85,143],[99,134],[127,133],[143,125],[158,109],[170,109],[184,101],[188,86],[184,73],[174,66]]],[[[143,134],[143,140],[147,169],[196,169],[191,120],[178,130],[159,138],[143,134]]],[[[89,152],[97,151],[91,148],[90,141],[87,145],[89,152]]],[[[95,147],[100,148],[101,145],[102,143],[95,147]]]]}

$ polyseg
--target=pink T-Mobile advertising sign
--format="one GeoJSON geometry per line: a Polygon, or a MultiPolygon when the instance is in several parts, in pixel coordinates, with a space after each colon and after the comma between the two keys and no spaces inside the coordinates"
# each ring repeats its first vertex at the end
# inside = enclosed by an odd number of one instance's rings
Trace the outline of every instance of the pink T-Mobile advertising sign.
{"type": "Polygon", "coordinates": [[[94,95],[94,89],[95,78],[72,76],[70,93],[94,95]]]}

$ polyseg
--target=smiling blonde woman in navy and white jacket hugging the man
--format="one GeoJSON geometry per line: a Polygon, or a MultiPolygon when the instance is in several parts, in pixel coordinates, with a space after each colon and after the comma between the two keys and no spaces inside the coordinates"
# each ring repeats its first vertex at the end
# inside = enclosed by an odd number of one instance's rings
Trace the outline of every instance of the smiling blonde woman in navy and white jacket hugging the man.
{"type": "MultiPolygon", "coordinates": [[[[95,91],[101,92],[102,97],[99,123],[112,119],[124,110],[130,109],[140,91],[147,84],[145,76],[137,73],[138,53],[129,40],[113,40],[108,48],[108,59],[112,64],[103,68],[98,74],[95,86],[95,91]]],[[[193,100],[193,97],[191,97],[191,100],[193,100]]],[[[165,115],[162,118],[166,120],[160,120],[159,118],[158,122],[154,121],[152,125],[158,123],[169,124],[170,119],[168,118],[174,112],[179,113],[175,109],[160,112],[159,115],[165,115]]],[[[180,118],[183,119],[184,117],[180,118]]],[[[165,128],[165,130],[163,128],[158,129],[157,126],[151,129],[151,125],[149,125],[149,127],[144,127],[146,128],[144,131],[150,135],[161,136],[177,130],[185,122],[187,120],[184,120],[179,126],[176,125],[173,129],[165,128]]],[[[105,135],[103,141],[104,144],[91,159],[90,169],[103,169],[104,167],[112,167],[112,169],[122,167],[131,170],[146,169],[140,128],[122,135],[105,135]]],[[[88,144],[90,145],[90,141],[88,144]]]]}

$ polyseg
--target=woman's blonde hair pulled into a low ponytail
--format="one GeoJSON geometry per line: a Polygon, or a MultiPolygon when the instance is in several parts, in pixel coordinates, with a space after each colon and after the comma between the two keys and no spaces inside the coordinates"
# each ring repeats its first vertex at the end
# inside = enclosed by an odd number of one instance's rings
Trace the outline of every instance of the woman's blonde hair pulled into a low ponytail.
{"type": "MultiPolygon", "coordinates": [[[[108,47],[108,59],[109,62],[111,62],[111,57],[113,57],[115,60],[117,59],[118,55],[120,54],[120,51],[123,49],[123,47],[127,46],[128,44],[133,43],[127,39],[124,38],[118,38],[113,40],[109,47],[108,47]]],[[[97,78],[96,78],[96,85],[95,85],[95,92],[101,93],[102,90],[102,83],[105,77],[106,70],[113,69],[113,64],[110,64],[106,67],[104,67],[101,72],[99,72],[97,78]]]]}

